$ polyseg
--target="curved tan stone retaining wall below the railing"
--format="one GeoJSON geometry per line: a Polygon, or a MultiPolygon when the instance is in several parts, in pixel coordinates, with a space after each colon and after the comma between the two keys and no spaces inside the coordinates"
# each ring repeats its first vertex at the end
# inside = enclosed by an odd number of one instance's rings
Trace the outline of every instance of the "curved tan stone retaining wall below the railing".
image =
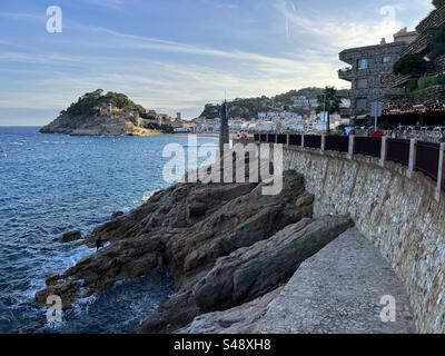
{"type": "Polygon", "coordinates": [[[380,249],[407,288],[418,330],[445,333],[445,199],[434,199],[435,185],[367,157],[285,148],[284,161],[305,175],[317,216],[350,214],[380,249]]]}

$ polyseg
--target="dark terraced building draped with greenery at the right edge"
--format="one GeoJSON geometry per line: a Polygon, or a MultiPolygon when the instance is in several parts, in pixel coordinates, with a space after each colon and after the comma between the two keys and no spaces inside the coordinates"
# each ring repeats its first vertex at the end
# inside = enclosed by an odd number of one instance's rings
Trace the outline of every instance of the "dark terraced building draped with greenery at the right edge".
{"type": "Polygon", "coordinates": [[[388,98],[384,119],[390,126],[445,126],[445,42],[441,34],[445,33],[445,2],[434,0],[433,4],[435,9],[416,27],[418,37],[400,53],[405,59],[423,59],[421,66],[386,78],[388,89],[406,91],[405,97],[388,98]]]}

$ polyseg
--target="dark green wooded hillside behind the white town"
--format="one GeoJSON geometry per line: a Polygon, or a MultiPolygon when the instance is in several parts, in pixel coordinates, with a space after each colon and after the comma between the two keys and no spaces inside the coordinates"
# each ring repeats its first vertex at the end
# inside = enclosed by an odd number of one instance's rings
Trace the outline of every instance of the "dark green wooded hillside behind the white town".
{"type": "MultiPolygon", "coordinates": [[[[259,98],[247,98],[247,99],[235,99],[228,102],[228,111],[233,118],[243,118],[250,120],[256,118],[258,112],[261,111],[274,111],[274,110],[287,110],[289,112],[296,112],[300,115],[307,115],[310,109],[296,108],[294,107],[294,97],[307,97],[310,99],[317,99],[323,92],[322,88],[304,88],[300,90],[290,90],[286,93],[277,95],[275,97],[259,97],[259,98]]],[[[221,106],[207,103],[204,108],[201,117],[214,119],[220,117],[221,106]]]]}

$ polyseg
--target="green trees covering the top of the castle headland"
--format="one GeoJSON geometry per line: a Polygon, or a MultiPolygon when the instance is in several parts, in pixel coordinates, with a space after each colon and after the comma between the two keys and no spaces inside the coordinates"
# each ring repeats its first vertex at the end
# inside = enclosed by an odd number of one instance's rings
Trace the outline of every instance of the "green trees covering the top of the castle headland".
{"type": "Polygon", "coordinates": [[[118,92],[107,92],[103,95],[102,89],[97,89],[92,92],[87,92],[80,97],[77,102],[69,106],[67,110],[60,112],[61,116],[93,116],[97,115],[97,108],[111,102],[113,107],[121,110],[134,112],[139,111],[140,115],[145,113],[145,109],[131,101],[126,95],[118,92]]]}

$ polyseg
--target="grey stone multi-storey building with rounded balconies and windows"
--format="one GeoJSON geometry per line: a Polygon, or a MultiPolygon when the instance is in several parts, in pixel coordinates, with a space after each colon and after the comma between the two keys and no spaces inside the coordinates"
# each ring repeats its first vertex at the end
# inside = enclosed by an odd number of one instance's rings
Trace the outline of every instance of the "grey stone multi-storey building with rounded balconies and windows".
{"type": "Polygon", "coordinates": [[[404,96],[403,88],[388,88],[385,78],[393,72],[394,62],[417,36],[406,29],[394,36],[394,42],[382,39],[379,44],[346,49],[339,59],[349,67],[338,71],[339,79],[350,82],[350,90],[342,90],[344,99],[350,100],[349,116],[366,117],[370,113],[373,101],[387,96],[404,96]]]}

